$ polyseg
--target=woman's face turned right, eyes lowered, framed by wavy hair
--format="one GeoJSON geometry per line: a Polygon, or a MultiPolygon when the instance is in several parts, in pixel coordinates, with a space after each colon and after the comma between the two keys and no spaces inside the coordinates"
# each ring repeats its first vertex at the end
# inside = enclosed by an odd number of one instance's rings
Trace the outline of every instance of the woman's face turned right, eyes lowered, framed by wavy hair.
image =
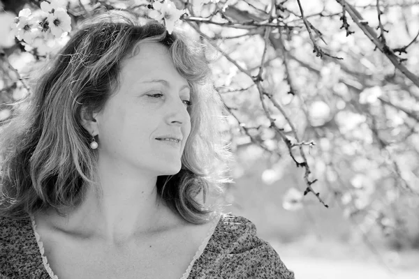
{"type": "Polygon", "coordinates": [[[124,59],[120,86],[98,120],[99,160],[118,167],[168,175],[179,172],[191,132],[191,90],[160,43],[143,43],[124,59]],[[156,140],[175,135],[181,142],[156,140]]]}

